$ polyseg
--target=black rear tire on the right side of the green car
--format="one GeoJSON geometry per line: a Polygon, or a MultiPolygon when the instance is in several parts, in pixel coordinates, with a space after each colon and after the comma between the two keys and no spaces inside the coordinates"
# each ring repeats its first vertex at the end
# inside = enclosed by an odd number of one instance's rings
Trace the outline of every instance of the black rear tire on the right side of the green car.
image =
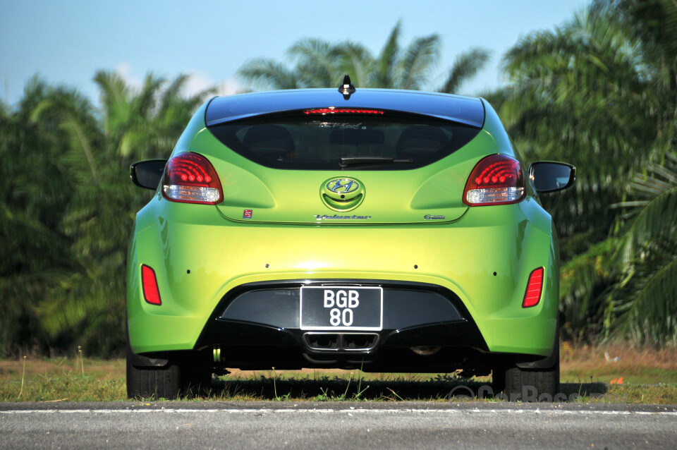
{"type": "Polygon", "coordinates": [[[559,355],[547,369],[496,367],[492,377],[494,393],[502,391],[509,401],[555,401],[559,394],[559,355]]]}

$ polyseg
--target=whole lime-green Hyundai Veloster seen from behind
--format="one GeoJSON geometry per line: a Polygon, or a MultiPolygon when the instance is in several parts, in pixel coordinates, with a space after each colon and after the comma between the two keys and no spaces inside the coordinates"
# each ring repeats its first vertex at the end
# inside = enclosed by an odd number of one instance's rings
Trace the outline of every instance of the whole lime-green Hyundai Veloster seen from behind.
{"type": "Polygon", "coordinates": [[[128,255],[127,392],[176,397],[226,368],[493,372],[559,391],[559,250],[492,107],[432,92],[215,97],[169,160],[128,255]]]}

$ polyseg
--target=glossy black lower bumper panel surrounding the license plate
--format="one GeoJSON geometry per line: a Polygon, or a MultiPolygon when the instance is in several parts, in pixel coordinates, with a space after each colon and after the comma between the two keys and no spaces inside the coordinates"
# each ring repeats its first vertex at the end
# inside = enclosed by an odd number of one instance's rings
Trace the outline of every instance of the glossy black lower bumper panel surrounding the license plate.
{"type": "MultiPolygon", "coordinates": [[[[432,284],[384,280],[288,280],[252,283],[229,292],[209,318],[195,350],[267,347],[297,348],[308,360],[370,360],[390,348],[444,346],[488,351],[463,302],[432,284]],[[299,327],[301,286],[383,288],[383,327],[353,331],[299,327]]],[[[223,358],[230,358],[224,351],[223,358]]],[[[276,366],[278,367],[278,366],[276,366]]]]}

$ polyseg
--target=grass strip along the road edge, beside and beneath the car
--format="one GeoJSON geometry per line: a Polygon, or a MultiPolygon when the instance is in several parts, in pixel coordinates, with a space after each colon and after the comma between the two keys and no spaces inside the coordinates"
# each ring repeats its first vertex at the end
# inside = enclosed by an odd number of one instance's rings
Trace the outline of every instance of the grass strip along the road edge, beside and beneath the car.
{"type": "MultiPolygon", "coordinates": [[[[367,374],[360,370],[233,370],[209,391],[185,401],[496,401],[490,377],[456,374],[367,374]],[[478,395],[479,394],[479,395],[478,395]]],[[[627,344],[561,348],[561,391],[568,401],[677,404],[677,349],[627,344]],[[606,353],[606,355],[605,355],[606,353]],[[622,384],[609,384],[623,379],[622,384]]],[[[124,401],[124,360],[20,358],[0,360],[0,401],[124,401]]]]}

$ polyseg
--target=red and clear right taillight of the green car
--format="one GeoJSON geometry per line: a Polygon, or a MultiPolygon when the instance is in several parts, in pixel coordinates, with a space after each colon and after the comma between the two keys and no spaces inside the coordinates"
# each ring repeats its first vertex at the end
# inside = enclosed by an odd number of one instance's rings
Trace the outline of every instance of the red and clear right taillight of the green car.
{"type": "Polygon", "coordinates": [[[517,203],[527,195],[522,167],[506,154],[492,154],[472,169],[463,190],[468,206],[517,203]]]}

